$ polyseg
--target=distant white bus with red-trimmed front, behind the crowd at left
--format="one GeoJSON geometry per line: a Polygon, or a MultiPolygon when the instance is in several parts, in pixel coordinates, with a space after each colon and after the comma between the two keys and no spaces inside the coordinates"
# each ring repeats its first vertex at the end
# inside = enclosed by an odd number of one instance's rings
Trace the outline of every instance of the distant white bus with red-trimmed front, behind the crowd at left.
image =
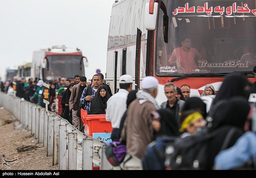
{"type": "Polygon", "coordinates": [[[76,74],[85,75],[84,66],[88,66],[88,60],[78,48],[52,46],[33,51],[31,77],[44,81],[66,77],[72,81],[76,74]]]}

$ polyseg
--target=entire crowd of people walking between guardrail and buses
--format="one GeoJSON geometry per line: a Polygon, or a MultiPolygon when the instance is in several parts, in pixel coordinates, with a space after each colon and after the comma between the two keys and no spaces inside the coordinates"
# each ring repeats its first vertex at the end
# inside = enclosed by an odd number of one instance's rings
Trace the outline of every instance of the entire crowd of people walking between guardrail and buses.
{"type": "MultiPolygon", "coordinates": [[[[256,67],[253,72],[256,75],[256,67]]],[[[26,82],[14,77],[13,81],[16,83],[16,96],[43,106],[43,80],[32,82],[31,79],[26,82]]],[[[84,124],[77,115],[79,108],[82,107],[88,114],[106,114],[106,120],[111,122],[113,128],[112,141],[125,144],[127,152],[139,159],[143,159],[147,146],[162,136],[187,137],[205,127],[209,133],[223,127],[225,129],[209,143],[208,169],[237,169],[250,161],[255,169],[256,133],[252,131],[254,107],[248,102],[253,84],[243,74],[228,75],[218,92],[211,84],[205,86],[201,97],[214,96],[209,111],[215,108],[211,122],[206,104],[200,97],[190,97],[187,84],[178,87],[174,83],[166,83],[164,91],[158,91],[158,80],[146,76],[140,83],[140,89],[133,90],[132,86],[136,84],[130,75],[125,74],[119,79],[119,91],[113,95],[110,87],[104,83],[103,74],[94,74],[92,80],[88,81],[85,76],[79,75],[74,76],[73,82],[64,77],[56,82],[47,81],[50,85],[49,110],[56,112],[56,96],[61,94],[61,117],[81,132],[84,124]],[[164,92],[167,98],[160,105],[155,99],[158,92],[164,92]],[[228,149],[221,151],[225,135],[232,127],[239,128],[241,132],[235,133],[228,143],[228,149]]],[[[8,90],[3,91],[9,93],[12,83],[9,83],[8,90]]]]}

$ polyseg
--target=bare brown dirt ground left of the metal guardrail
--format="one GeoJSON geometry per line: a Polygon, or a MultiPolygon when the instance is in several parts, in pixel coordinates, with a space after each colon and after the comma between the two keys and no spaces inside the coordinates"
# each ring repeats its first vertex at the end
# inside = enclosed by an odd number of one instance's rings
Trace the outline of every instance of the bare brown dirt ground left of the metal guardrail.
{"type": "Polygon", "coordinates": [[[58,170],[46,147],[0,106],[0,170],[58,170]]]}

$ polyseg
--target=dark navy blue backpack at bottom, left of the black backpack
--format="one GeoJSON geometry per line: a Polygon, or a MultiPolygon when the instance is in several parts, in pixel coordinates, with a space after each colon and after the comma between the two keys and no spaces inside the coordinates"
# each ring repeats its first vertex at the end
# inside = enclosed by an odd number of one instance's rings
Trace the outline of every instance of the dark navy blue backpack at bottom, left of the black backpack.
{"type": "Polygon", "coordinates": [[[143,170],[165,170],[165,147],[176,138],[176,136],[162,136],[149,143],[142,158],[143,170]]]}

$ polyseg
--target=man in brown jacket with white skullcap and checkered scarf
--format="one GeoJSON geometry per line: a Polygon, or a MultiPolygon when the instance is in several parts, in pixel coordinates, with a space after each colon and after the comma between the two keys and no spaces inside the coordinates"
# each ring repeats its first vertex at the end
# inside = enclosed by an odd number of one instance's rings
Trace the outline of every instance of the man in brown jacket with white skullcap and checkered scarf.
{"type": "Polygon", "coordinates": [[[153,141],[153,126],[151,112],[159,109],[155,100],[158,80],[147,76],[141,81],[141,89],[127,109],[121,143],[126,144],[127,153],[139,159],[144,156],[147,146],[153,141]]]}

